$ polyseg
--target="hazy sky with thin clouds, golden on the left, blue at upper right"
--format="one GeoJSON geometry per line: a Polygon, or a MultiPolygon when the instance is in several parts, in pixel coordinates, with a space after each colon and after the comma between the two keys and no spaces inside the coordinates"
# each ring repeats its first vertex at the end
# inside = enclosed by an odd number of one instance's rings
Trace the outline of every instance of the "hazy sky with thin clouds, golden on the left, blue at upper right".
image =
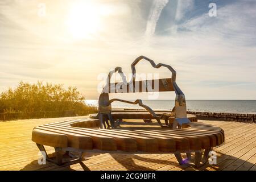
{"type": "Polygon", "coordinates": [[[0,91],[39,80],[97,99],[104,75],[144,55],[176,70],[187,100],[255,100],[255,19],[254,0],[1,0],[0,91]]]}

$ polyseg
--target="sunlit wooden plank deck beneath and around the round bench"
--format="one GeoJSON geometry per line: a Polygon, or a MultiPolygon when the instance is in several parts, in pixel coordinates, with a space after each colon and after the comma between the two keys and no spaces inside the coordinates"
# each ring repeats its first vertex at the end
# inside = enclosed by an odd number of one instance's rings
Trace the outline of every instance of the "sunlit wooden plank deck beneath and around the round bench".
{"type": "MultiPolygon", "coordinates": [[[[61,167],[48,162],[39,165],[40,153],[31,141],[32,129],[65,119],[71,118],[0,122],[0,170],[196,170],[187,164],[179,166],[174,154],[85,154],[86,158],[80,163],[69,163],[61,167]]],[[[217,152],[217,165],[207,164],[201,170],[256,171],[255,123],[199,122],[213,123],[225,130],[225,144],[214,148],[217,152]]],[[[53,152],[51,147],[46,150],[53,152]]]]}

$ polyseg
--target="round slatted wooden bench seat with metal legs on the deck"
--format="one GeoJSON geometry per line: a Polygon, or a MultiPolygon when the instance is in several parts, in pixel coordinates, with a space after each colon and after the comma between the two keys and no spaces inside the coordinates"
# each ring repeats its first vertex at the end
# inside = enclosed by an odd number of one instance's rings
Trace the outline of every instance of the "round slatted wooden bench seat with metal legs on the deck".
{"type": "Polygon", "coordinates": [[[56,160],[46,155],[47,160],[63,164],[63,155],[70,151],[80,152],[133,152],[174,153],[183,164],[181,153],[191,159],[195,152],[195,165],[208,159],[209,151],[224,143],[224,131],[217,126],[191,122],[185,129],[170,127],[134,127],[106,130],[98,129],[98,119],[74,119],[37,126],[32,131],[32,141],[40,151],[46,152],[44,145],[55,147],[56,160]]]}

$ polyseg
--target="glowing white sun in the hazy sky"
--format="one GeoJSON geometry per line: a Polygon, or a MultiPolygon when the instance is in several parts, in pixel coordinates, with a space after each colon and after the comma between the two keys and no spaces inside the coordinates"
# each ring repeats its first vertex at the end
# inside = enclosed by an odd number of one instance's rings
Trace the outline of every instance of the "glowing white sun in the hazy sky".
{"type": "Polygon", "coordinates": [[[74,3],[69,9],[67,28],[74,39],[92,39],[101,30],[100,6],[91,1],[74,3]]]}

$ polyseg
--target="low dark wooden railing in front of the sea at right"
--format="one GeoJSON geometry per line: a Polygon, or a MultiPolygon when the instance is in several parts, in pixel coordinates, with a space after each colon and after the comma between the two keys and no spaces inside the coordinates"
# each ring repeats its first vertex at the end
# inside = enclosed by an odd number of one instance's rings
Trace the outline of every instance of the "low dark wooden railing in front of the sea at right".
{"type": "Polygon", "coordinates": [[[256,114],[238,114],[238,113],[210,113],[187,111],[188,114],[196,115],[197,119],[202,120],[219,120],[219,121],[240,121],[256,122],[256,114]]]}

